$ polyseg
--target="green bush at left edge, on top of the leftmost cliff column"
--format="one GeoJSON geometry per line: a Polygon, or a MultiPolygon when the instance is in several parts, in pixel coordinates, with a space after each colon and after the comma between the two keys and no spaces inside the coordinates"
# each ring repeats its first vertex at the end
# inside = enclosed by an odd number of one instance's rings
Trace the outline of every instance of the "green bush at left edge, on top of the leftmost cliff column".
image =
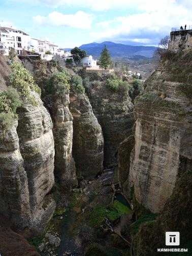
{"type": "Polygon", "coordinates": [[[0,123],[3,127],[10,126],[17,118],[16,110],[21,106],[20,93],[13,87],[0,92],[0,123]]]}

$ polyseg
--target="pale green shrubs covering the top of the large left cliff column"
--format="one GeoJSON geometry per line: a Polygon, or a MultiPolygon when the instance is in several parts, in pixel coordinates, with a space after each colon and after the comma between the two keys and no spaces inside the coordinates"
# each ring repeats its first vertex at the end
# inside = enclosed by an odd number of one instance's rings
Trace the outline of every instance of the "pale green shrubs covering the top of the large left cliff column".
{"type": "Polygon", "coordinates": [[[9,75],[9,82],[21,93],[21,97],[26,99],[28,103],[38,106],[35,97],[30,95],[30,90],[41,94],[41,89],[35,83],[31,73],[19,62],[12,63],[11,69],[12,73],[9,75]]]}

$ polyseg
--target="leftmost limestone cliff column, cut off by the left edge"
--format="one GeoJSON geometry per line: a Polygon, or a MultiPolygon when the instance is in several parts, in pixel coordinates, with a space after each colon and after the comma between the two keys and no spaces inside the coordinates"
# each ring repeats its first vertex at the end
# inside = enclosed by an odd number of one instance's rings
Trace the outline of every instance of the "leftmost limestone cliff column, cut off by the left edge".
{"type": "Polygon", "coordinates": [[[21,228],[31,226],[27,174],[19,148],[16,127],[0,131],[0,204],[1,213],[21,228]]]}

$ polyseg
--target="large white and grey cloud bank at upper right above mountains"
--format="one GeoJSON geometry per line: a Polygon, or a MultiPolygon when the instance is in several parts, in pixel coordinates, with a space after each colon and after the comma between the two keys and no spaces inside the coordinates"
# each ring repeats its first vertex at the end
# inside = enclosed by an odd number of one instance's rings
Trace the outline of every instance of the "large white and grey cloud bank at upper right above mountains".
{"type": "MultiPolygon", "coordinates": [[[[136,1],[138,2],[138,1],[136,1]]],[[[131,41],[157,44],[159,38],[169,35],[171,27],[192,24],[191,9],[175,0],[148,0],[138,5],[140,13],[99,22],[104,30],[91,32],[94,41],[131,41]]]]}

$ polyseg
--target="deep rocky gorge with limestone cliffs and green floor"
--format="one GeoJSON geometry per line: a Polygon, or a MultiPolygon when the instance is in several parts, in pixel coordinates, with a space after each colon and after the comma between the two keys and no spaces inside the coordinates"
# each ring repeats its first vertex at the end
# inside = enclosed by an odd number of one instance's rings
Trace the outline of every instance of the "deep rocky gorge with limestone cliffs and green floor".
{"type": "Polygon", "coordinates": [[[191,63],[171,48],[133,100],[115,74],[0,56],[1,226],[23,255],[155,256],[166,231],[190,253],[191,63]]]}

